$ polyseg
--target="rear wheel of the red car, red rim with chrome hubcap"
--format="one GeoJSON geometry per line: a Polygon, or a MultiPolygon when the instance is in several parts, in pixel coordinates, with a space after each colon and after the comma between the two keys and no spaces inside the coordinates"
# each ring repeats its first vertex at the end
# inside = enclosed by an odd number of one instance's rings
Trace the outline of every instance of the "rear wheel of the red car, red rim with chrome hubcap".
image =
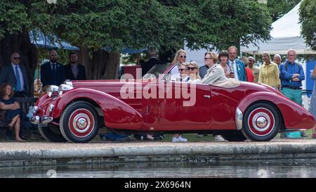
{"type": "Polygon", "coordinates": [[[281,126],[281,118],[273,105],[256,103],[244,113],[242,133],[251,141],[270,141],[281,126]]]}

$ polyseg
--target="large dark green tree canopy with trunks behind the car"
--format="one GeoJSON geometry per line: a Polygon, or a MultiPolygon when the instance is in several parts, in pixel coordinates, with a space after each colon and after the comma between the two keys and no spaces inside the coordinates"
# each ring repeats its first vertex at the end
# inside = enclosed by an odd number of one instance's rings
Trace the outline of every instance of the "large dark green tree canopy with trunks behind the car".
{"type": "Polygon", "coordinates": [[[186,41],[191,49],[225,49],[267,40],[271,18],[256,0],[3,0],[0,24],[0,64],[20,51],[33,74],[37,49],[28,33],[41,31],[79,46],[88,78],[113,79],[125,47],[169,50],[186,41]]]}

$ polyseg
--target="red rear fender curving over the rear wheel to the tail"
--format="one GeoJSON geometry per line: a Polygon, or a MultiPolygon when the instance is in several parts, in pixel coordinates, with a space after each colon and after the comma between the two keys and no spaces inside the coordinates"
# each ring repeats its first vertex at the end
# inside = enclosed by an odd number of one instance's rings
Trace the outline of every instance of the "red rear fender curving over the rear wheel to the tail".
{"type": "Polygon", "coordinates": [[[312,115],[308,112],[308,110],[301,107],[301,105],[294,103],[284,96],[280,96],[272,92],[260,91],[249,94],[239,101],[236,109],[237,129],[240,127],[240,113],[244,114],[246,108],[248,108],[251,103],[258,101],[268,101],[270,103],[274,103],[282,114],[284,126],[287,129],[310,129],[315,124],[315,120],[312,115]]]}

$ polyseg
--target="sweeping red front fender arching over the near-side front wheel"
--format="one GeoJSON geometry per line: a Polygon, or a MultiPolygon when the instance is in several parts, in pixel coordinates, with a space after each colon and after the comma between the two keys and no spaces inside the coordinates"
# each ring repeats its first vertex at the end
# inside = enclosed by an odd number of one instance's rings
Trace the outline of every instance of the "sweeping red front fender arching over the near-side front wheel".
{"type": "Polygon", "coordinates": [[[123,101],[94,89],[77,88],[65,92],[56,101],[53,118],[59,118],[66,106],[73,101],[94,101],[104,113],[105,127],[119,129],[140,129],[143,125],[143,116],[137,110],[123,101]]]}

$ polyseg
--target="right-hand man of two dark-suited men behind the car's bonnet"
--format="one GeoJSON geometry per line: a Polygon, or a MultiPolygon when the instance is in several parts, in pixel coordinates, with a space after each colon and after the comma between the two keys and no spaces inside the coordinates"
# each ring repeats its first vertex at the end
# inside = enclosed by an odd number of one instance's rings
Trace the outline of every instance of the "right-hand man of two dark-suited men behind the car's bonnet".
{"type": "Polygon", "coordinates": [[[65,78],[70,80],[86,80],[86,68],[84,68],[84,65],[77,63],[77,53],[69,53],[68,58],[70,63],[65,65],[65,78]]]}

